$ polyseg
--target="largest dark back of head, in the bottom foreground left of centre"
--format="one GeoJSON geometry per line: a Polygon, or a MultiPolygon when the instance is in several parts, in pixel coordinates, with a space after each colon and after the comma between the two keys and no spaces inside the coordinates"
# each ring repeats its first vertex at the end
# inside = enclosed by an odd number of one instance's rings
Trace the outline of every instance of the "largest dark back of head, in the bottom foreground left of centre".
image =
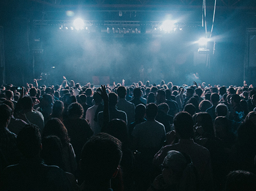
{"type": "Polygon", "coordinates": [[[117,138],[99,133],[91,137],[81,152],[81,174],[86,183],[100,185],[109,182],[122,157],[121,142],[117,138]]]}

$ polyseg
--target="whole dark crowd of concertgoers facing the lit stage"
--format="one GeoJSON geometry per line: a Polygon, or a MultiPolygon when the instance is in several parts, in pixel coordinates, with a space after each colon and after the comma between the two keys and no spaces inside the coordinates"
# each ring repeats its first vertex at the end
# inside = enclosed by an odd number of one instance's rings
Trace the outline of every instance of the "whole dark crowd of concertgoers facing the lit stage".
{"type": "Polygon", "coordinates": [[[172,82],[0,91],[0,190],[256,190],[256,89],[172,82]]]}

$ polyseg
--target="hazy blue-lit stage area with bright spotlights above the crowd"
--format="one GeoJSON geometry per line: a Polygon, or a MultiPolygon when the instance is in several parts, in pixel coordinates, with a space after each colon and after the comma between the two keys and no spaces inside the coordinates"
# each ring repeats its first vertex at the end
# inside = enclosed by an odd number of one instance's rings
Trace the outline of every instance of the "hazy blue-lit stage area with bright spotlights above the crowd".
{"type": "Polygon", "coordinates": [[[255,1],[0,4],[2,83],[255,83],[255,1]]]}

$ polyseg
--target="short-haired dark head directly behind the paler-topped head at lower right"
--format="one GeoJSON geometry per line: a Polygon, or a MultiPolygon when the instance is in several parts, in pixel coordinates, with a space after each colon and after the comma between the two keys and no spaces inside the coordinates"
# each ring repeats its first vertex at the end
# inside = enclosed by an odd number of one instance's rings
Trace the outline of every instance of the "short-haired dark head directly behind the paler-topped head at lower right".
{"type": "Polygon", "coordinates": [[[174,116],[174,128],[180,138],[189,139],[194,136],[193,119],[188,112],[180,111],[174,116]]]}

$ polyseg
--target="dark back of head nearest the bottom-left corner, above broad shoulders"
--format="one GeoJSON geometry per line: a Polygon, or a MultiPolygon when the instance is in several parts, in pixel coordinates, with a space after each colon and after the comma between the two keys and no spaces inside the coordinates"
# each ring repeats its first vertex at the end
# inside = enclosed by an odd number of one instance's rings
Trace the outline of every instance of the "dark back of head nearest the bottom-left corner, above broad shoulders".
{"type": "Polygon", "coordinates": [[[26,125],[17,136],[17,147],[26,158],[33,158],[40,152],[41,135],[36,125],[26,125]]]}

